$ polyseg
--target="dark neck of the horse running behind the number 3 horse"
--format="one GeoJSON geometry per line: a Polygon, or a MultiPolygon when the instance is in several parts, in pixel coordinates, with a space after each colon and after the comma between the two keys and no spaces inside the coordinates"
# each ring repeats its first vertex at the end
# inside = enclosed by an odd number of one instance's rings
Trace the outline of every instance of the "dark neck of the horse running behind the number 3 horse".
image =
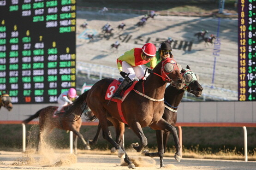
{"type": "Polygon", "coordinates": [[[177,88],[169,85],[165,90],[165,101],[167,101],[167,103],[173,107],[178,107],[184,92],[185,91],[183,89],[178,90],[177,88]]]}

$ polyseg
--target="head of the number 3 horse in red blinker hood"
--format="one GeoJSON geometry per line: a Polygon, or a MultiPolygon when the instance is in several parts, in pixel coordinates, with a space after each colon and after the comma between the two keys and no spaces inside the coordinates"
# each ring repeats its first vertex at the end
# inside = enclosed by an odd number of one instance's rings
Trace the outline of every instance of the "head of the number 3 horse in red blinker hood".
{"type": "Polygon", "coordinates": [[[165,82],[170,82],[172,86],[181,89],[185,85],[185,80],[180,74],[181,65],[177,64],[172,58],[167,58],[162,61],[161,77],[165,82]]]}

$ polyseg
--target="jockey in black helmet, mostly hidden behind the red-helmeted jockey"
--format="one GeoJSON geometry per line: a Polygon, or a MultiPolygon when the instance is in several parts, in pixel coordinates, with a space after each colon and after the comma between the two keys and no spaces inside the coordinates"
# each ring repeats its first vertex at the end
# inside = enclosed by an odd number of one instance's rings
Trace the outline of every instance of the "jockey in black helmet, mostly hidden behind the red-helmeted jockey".
{"type": "MultiPolygon", "coordinates": [[[[173,58],[171,45],[168,42],[162,42],[158,48],[158,51],[155,53],[155,58],[156,64],[160,63],[164,59],[173,58]]],[[[143,64],[142,68],[145,72],[146,69],[150,69],[150,64],[143,64]]],[[[147,73],[145,76],[149,76],[149,73],[147,73]]]]}

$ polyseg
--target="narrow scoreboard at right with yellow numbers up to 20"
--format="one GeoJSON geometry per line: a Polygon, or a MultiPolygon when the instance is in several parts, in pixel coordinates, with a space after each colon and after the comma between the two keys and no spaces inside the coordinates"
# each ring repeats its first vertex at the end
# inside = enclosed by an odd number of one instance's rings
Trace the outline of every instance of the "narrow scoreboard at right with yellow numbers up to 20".
{"type": "Polygon", "coordinates": [[[238,100],[256,100],[256,0],[238,0],[238,100]]]}

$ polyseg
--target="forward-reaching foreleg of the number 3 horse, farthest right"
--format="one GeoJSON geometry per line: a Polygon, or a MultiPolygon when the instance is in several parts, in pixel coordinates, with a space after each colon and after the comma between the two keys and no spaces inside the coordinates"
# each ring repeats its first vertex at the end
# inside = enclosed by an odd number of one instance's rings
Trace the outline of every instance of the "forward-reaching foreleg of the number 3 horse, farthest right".
{"type": "Polygon", "coordinates": [[[158,123],[151,124],[149,127],[152,129],[161,129],[161,130],[167,130],[169,132],[172,132],[174,143],[175,143],[175,149],[176,149],[174,158],[179,162],[181,159],[181,153],[180,153],[179,137],[178,137],[176,128],[170,125],[169,123],[167,123],[163,118],[161,118],[160,121],[158,121],[158,123]]]}

